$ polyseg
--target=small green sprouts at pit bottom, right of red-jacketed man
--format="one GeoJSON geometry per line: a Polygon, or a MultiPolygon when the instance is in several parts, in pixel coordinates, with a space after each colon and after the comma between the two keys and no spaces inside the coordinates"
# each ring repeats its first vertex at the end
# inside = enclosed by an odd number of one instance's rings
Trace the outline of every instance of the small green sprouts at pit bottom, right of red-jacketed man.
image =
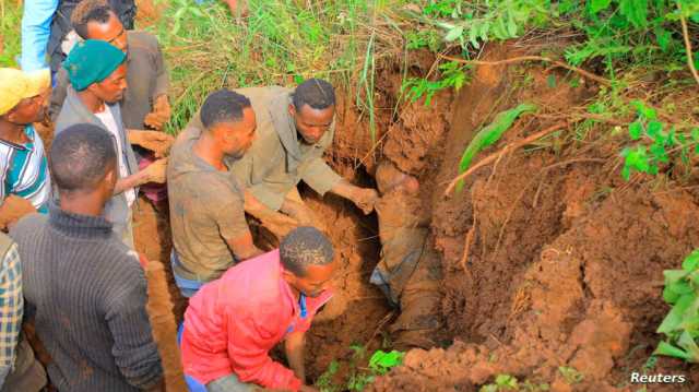
{"type": "Polygon", "coordinates": [[[364,391],[366,387],[374,382],[377,376],[386,375],[392,368],[401,365],[405,355],[396,351],[387,353],[379,349],[369,358],[368,367],[362,367],[360,365],[366,361],[366,347],[354,345],[351,348],[354,353],[347,364],[333,360],[318,378],[316,387],[321,392],[364,391]],[[348,368],[348,377],[346,382],[336,383],[334,379],[342,367],[348,368]]]}

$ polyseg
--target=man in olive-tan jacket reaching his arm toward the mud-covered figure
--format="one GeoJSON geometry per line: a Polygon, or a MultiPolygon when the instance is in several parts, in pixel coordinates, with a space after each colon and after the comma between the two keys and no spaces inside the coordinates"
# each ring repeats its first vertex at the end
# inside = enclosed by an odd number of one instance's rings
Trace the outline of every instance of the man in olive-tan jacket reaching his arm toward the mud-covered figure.
{"type": "MultiPolygon", "coordinates": [[[[323,161],[334,135],[335,92],[330,83],[310,79],[296,90],[270,86],[238,92],[250,98],[258,121],[252,147],[232,166],[246,186],[247,213],[262,219],[263,225],[276,211],[294,218],[286,230],[272,228],[277,237],[294,225],[322,229],[322,219],[298,193],[300,180],[321,195],[331,192],[351,200],[365,214],[374,210],[376,190],[353,186],[323,161]]],[[[198,122],[197,117],[192,122],[198,122]]]]}

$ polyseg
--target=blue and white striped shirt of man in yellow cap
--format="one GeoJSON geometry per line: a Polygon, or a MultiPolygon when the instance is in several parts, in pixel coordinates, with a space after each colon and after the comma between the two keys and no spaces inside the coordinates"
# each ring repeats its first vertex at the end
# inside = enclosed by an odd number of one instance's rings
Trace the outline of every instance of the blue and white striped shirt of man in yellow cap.
{"type": "Polygon", "coordinates": [[[44,143],[33,126],[24,132],[28,143],[0,139],[0,200],[16,194],[32,202],[38,212],[47,213],[51,179],[44,143]]]}

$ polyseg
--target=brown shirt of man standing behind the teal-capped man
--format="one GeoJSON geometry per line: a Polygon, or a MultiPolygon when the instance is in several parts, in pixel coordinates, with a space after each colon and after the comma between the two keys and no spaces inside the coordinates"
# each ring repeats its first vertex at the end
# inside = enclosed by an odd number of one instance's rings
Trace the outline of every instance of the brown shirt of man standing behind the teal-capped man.
{"type": "MultiPolygon", "coordinates": [[[[169,79],[157,38],[145,32],[127,32],[127,90],[121,100],[121,119],[127,129],[143,129],[153,103],[166,95],[169,79]]],[[[60,69],[51,93],[49,114],[54,120],[66,99],[68,73],[60,69]]]]}

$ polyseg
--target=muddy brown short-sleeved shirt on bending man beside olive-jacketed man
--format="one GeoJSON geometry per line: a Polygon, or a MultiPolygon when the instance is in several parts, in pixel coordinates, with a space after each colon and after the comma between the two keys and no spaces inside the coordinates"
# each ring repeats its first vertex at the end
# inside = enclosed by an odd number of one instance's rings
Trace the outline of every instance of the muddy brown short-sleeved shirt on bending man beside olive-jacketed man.
{"type": "Polygon", "coordinates": [[[201,130],[188,128],[171,149],[167,166],[175,274],[209,282],[235,264],[225,239],[249,233],[244,194],[229,171],[218,171],[192,151],[201,130]]]}

